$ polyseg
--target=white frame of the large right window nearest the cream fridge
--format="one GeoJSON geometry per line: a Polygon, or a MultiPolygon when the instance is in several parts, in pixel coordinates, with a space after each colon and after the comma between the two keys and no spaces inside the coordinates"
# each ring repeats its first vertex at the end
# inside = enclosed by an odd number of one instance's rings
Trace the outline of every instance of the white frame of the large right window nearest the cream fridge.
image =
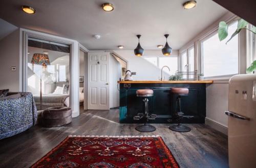
{"type": "MultiPolygon", "coordinates": [[[[231,25],[233,22],[237,21],[238,20],[238,17],[235,17],[235,18],[232,18],[231,20],[229,21],[226,21],[228,25],[231,25]]],[[[203,65],[203,45],[202,43],[204,41],[206,41],[207,39],[209,39],[210,37],[218,34],[218,28],[219,27],[216,27],[214,30],[212,30],[211,32],[208,32],[204,37],[200,38],[199,39],[199,72],[200,74],[204,74],[204,65],[203,65]]],[[[208,79],[208,80],[218,80],[218,79],[226,79],[226,80],[229,80],[230,77],[234,76],[234,75],[238,75],[238,74],[243,74],[241,73],[242,71],[245,71],[245,70],[242,70],[241,71],[241,68],[243,67],[243,65],[241,65],[242,62],[244,62],[244,58],[241,58],[241,36],[244,36],[244,33],[242,33],[243,31],[241,31],[238,35],[238,73],[237,74],[229,74],[229,75],[220,75],[220,76],[212,76],[212,77],[205,77],[204,79],[208,79]],[[242,61],[241,61],[242,59],[242,61]]],[[[227,40],[227,39],[226,39],[227,40]]]]}

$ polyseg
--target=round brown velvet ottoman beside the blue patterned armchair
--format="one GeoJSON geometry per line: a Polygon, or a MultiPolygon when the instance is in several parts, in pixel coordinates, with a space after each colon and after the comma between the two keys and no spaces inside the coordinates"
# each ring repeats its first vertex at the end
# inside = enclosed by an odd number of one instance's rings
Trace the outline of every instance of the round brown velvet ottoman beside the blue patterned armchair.
{"type": "Polygon", "coordinates": [[[45,127],[57,127],[72,122],[72,110],[69,107],[50,107],[41,115],[41,124],[45,127]]]}

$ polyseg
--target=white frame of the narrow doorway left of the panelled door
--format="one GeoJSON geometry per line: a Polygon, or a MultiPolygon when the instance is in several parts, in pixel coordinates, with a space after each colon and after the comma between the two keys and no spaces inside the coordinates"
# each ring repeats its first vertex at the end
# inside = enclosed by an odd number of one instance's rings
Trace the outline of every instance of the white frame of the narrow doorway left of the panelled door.
{"type": "MultiPolygon", "coordinates": [[[[88,75],[88,69],[87,69],[87,53],[89,52],[89,50],[87,50],[84,46],[82,46],[81,44],[79,44],[79,51],[82,51],[84,53],[84,56],[83,56],[83,65],[84,65],[84,68],[83,68],[83,74],[84,76],[86,76],[86,78],[83,78],[83,110],[88,110],[88,103],[87,103],[87,100],[88,100],[88,80],[87,80],[87,75],[88,75]],[[86,88],[86,89],[84,89],[86,88]]],[[[80,63],[79,63],[79,66],[80,66],[80,63]]],[[[79,67],[80,69],[80,67],[79,67]]],[[[79,75],[80,76],[80,75],[79,75]]]]}

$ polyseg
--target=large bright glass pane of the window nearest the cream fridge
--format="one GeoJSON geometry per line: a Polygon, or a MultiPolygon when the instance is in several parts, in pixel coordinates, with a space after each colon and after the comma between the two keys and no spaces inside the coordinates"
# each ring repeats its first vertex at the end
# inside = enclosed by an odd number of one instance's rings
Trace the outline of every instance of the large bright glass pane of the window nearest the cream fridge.
{"type": "Polygon", "coordinates": [[[238,74],[238,36],[227,44],[227,39],[237,29],[237,22],[228,27],[228,37],[221,41],[218,33],[201,43],[205,77],[238,74]]]}

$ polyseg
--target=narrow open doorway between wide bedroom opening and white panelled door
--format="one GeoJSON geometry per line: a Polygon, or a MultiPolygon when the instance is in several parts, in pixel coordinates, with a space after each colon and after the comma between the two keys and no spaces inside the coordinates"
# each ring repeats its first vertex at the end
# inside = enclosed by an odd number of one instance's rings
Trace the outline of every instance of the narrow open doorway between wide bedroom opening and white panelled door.
{"type": "Polygon", "coordinates": [[[79,49],[79,109],[87,110],[87,53],[79,49]]]}

